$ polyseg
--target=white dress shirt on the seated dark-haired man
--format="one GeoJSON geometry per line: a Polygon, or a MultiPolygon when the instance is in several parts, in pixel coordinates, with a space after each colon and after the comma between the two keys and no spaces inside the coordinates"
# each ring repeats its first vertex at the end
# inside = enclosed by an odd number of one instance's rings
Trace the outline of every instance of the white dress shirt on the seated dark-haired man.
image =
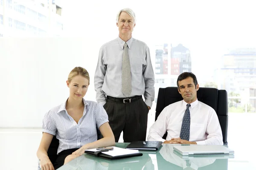
{"type": "MultiPolygon", "coordinates": [[[[182,100],[166,106],[150,127],[148,141],[164,142],[172,138],[179,138],[187,104],[182,100]],[[163,139],[166,131],[167,137],[163,139]]],[[[223,145],[221,126],[214,109],[198,100],[190,105],[189,141],[197,144],[223,145]]]]}

